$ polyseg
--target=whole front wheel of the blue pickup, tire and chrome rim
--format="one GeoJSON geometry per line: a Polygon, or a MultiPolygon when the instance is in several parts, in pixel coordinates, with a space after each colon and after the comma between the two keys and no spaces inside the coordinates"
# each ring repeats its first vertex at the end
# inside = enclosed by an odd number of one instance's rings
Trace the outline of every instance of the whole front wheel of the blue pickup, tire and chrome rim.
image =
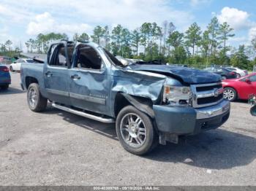
{"type": "Polygon", "coordinates": [[[134,106],[126,106],[118,113],[116,134],[121,146],[135,155],[145,155],[157,146],[151,118],[134,106]]]}

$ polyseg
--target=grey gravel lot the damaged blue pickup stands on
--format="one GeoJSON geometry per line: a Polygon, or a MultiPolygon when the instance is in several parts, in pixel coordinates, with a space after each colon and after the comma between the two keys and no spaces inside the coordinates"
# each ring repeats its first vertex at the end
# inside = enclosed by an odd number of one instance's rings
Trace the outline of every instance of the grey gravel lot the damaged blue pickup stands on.
{"type": "Polygon", "coordinates": [[[1,185],[256,185],[256,117],[245,102],[232,103],[221,128],[138,157],[114,125],[50,106],[31,112],[19,77],[0,92],[1,185]]]}

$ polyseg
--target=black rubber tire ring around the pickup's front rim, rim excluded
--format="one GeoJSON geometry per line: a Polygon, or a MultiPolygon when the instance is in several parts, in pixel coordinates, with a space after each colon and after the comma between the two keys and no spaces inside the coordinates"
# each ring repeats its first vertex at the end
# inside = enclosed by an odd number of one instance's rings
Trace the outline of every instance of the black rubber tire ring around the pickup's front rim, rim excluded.
{"type": "Polygon", "coordinates": [[[148,117],[148,115],[144,114],[143,112],[140,112],[134,106],[126,106],[123,109],[121,109],[121,111],[118,113],[118,116],[116,118],[116,134],[118,136],[118,139],[119,139],[122,147],[124,147],[124,149],[126,149],[128,152],[131,152],[132,154],[145,155],[147,152],[149,152],[149,151],[151,151],[151,149],[153,149],[154,136],[155,136],[153,122],[152,122],[151,118],[148,117]],[[128,114],[128,113],[138,114],[138,116],[141,118],[141,120],[143,120],[143,122],[145,124],[146,141],[144,142],[144,144],[141,147],[134,148],[134,147],[129,146],[121,136],[121,130],[120,130],[121,120],[124,117],[124,115],[128,114]]]}

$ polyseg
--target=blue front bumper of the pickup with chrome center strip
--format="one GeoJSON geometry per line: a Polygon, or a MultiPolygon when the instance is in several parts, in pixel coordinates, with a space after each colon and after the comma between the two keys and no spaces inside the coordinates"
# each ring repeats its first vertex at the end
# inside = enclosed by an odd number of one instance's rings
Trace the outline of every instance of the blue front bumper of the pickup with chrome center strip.
{"type": "Polygon", "coordinates": [[[223,100],[214,106],[194,109],[191,106],[154,105],[157,128],[162,133],[192,135],[219,128],[230,114],[230,102],[223,100]]]}

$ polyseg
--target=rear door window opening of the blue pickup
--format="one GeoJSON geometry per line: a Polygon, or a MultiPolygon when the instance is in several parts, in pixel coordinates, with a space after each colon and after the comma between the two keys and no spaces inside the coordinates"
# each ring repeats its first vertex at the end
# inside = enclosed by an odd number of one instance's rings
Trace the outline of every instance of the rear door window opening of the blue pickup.
{"type": "Polygon", "coordinates": [[[50,66],[67,66],[64,44],[56,44],[50,50],[50,66]]]}

